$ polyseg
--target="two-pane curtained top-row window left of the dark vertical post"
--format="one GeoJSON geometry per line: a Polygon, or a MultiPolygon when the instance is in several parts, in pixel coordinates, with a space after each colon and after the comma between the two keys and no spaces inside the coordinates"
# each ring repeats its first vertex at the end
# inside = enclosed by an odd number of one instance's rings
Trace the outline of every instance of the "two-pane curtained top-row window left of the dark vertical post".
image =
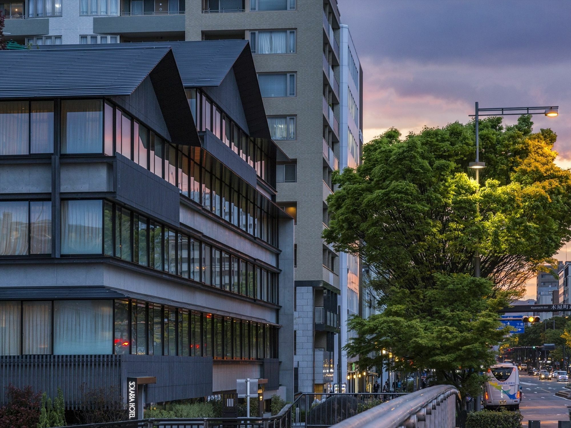
{"type": "Polygon", "coordinates": [[[0,155],[53,151],[53,101],[0,102],[0,155]]]}

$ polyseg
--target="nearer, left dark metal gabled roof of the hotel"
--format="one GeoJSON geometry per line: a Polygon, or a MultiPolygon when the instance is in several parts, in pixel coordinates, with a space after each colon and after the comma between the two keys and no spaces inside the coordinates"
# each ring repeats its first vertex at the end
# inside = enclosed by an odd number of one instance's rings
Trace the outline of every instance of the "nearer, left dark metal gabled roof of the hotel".
{"type": "Polygon", "coordinates": [[[0,76],[11,82],[0,86],[0,99],[131,95],[148,76],[171,142],[200,146],[171,47],[109,46],[0,51],[0,76]]]}

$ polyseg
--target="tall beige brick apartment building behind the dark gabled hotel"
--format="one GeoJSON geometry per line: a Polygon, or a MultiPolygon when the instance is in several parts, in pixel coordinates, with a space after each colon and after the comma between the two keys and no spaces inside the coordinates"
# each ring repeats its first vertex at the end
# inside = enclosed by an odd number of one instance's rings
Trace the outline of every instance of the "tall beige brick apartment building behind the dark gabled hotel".
{"type": "MultiPolygon", "coordinates": [[[[343,27],[350,39],[347,26],[343,27]]],[[[347,313],[359,312],[347,307],[349,298],[359,301],[359,264],[353,258],[351,272],[351,257],[340,257],[324,243],[321,233],[328,227],[326,200],[333,191],[332,171],[339,169],[339,159],[341,167],[359,163],[358,58],[350,54],[352,42],[345,42],[340,50],[343,36],[336,0],[187,3],[186,40],[228,38],[250,41],[272,138],[291,159],[278,165],[276,185],[278,204],[296,219],[294,390],[333,390],[339,369],[338,305],[343,320],[347,313]],[[347,84],[340,88],[343,60],[348,76],[350,66],[356,70],[353,91],[347,84]],[[353,131],[348,116],[353,117],[353,131]],[[346,152],[352,153],[349,159],[346,152]],[[347,288],[348,276],[356,284],[351,296],[341,292],[347,288]]],[[[344,342],[348,336],[343,334],[344,342]]],[[[346,356],[341,366],[345,383],[351,376],[348,372],[356,370],[346,356]]],[[[347,383],[348,389],[355,390],[352,382],[347,383]]]]}

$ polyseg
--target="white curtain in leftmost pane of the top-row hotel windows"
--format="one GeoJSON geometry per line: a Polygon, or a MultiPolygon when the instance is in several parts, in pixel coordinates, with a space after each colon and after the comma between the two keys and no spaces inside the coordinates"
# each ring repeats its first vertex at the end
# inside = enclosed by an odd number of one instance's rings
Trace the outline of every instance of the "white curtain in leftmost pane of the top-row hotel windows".
{"type": "Polygon", "coordinates": [[[0,155],[28,154],[28,102],[0,102],[0,155]]]}

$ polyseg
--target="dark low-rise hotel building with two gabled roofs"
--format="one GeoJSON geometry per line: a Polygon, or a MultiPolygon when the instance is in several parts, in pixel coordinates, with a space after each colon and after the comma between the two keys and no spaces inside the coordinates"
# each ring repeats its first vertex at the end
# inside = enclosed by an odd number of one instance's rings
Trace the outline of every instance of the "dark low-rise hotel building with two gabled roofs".
{"type": "Polygon", "coordinates": [[[247,42],[1,51],[0,75],[27,76],[0,87],[0,386],[292,399],[288,158],[247,42]]]}

